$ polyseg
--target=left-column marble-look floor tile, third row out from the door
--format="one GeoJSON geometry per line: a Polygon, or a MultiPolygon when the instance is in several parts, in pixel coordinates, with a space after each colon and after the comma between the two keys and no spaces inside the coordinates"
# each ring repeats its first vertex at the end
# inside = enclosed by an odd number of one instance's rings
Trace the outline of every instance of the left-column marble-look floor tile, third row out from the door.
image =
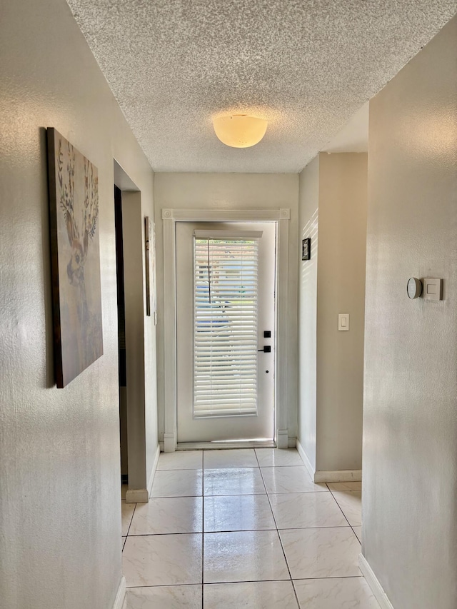
{"type": "Polygon", "coordinates": [[[161,497],[136,506],[129,535],[201,533],[203,498],[161,497]]]}

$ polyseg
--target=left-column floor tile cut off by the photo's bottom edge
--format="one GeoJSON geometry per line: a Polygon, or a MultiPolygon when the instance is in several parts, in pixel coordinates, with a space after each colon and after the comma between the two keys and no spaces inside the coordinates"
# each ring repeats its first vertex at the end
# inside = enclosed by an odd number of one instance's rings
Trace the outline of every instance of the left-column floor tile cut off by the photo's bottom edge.
{"type": "Polygon", "coordinates": [[[122,609],[201,609],[201,585],[129,588],[122,609]]]}

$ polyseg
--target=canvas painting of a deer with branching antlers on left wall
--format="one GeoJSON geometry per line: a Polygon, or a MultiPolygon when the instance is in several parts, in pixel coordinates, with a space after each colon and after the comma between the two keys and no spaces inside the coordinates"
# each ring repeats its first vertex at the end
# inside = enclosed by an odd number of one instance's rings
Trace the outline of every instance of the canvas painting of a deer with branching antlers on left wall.
{"type": "Polygon", "coordinates": [[[103,355],[97,168],[49,127],[48,168],[56,385],[103,355]]]}

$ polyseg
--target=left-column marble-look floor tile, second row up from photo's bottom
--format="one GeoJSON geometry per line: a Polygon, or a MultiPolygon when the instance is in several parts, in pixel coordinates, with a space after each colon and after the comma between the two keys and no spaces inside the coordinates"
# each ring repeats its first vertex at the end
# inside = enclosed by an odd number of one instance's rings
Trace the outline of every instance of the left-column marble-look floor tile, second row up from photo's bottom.
{"type": "Polygon", "coordinates": [[[201,583],[201,533],[128,537],[122,554],[127,586],[201,583]]]}

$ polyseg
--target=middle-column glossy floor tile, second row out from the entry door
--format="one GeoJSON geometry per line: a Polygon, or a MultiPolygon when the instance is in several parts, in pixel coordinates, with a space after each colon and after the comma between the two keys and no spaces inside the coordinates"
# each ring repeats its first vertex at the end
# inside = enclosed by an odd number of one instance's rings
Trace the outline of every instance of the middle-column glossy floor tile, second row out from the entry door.
{"type": "Polygon", "coordinates": [[[258,468],[217,469],[204,472],[204,495],[265,495],[258,468]]]}

